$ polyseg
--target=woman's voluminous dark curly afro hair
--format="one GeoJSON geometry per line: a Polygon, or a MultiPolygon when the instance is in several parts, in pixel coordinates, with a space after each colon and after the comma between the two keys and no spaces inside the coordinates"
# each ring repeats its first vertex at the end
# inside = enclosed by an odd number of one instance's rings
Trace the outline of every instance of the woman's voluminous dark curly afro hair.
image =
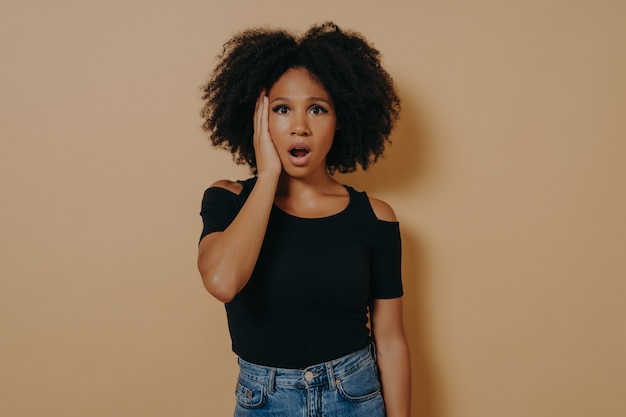
{"type": "Polygon", "coordinates": [[[291,68],[304,68],[326,88],[337,112],[333,145],[326,158],[332,174],[365,170],[390,142],[400,113],[393,80],[380,53],[361,34],[332,22],[304,35],[285,30],[250,29],[224,45],[209,81],[202,86],[203,129],[211,143],[233,154],[256,173],[253,115],[256,100],[291,68]]]}

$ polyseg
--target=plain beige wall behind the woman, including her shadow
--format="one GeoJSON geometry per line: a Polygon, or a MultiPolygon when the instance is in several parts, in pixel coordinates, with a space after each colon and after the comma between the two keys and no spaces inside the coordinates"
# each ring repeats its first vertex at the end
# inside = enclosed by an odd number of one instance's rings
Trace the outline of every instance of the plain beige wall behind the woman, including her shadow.
{"type": "MultiPolygon", "coordinates": [[[[213,3],[213,4],[212,4],[213,3]]],[[[198,86],[250,25],[333,19],[404,100],[342,180],[405,242],[416,417],[626,415],[626,3],[0,5],[0,415],[226,416],[235,358],[195,269],[204,188],[243,178],[198,86]]]]}

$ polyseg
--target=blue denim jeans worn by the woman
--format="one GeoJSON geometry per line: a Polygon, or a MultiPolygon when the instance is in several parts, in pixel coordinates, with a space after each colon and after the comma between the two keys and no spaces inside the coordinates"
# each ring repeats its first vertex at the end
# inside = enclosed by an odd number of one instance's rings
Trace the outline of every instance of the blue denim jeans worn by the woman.
{"type": "Polygon", "coordinates": [[[384,417],[374,347],[305,369],[239,359],[235,417],[384,417]]]}

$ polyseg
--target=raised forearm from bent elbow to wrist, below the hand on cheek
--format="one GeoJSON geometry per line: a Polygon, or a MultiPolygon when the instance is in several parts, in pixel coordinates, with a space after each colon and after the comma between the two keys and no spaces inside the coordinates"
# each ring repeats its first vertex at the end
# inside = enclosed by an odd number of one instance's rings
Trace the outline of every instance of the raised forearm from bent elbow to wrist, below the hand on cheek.
{"type": "Polygon", "coordinates": [[[229,302],[250,279],[263,245],[277,182],[260,176],[226,230],[207,235],[200,243],[198,270],[206,289],[220,301],[229,302]]]}

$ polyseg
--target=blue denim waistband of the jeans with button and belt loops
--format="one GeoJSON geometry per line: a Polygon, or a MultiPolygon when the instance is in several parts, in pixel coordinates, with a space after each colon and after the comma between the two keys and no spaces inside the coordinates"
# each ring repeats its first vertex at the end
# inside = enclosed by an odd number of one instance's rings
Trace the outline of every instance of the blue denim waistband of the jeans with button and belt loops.
{"type": "Polygon", "coordinates": [[[238,359],[240,377],[266,385],[270,394],[274,387],[308,389],[327,384],[330,390],[334,390],[336,378],[349,375],[370,361],[376,361],[373,343],[339,359],[304,369],[272,368],[238,359]]]}

